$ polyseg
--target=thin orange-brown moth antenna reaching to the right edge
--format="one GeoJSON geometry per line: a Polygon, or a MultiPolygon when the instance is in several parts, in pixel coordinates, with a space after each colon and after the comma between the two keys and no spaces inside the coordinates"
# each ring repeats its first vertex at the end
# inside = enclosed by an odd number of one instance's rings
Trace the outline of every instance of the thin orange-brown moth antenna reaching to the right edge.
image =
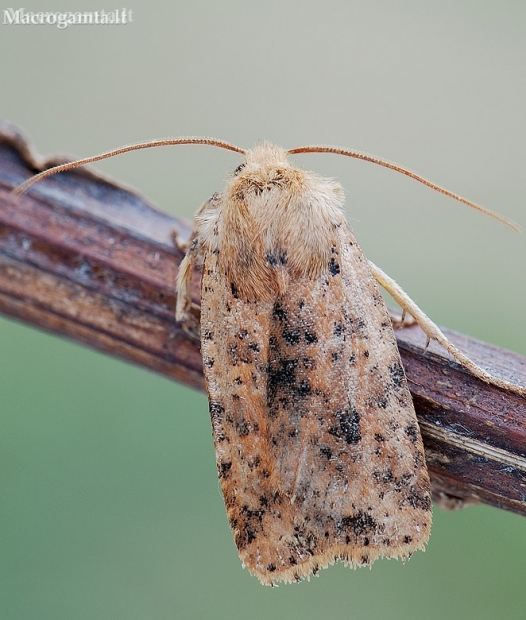
{"type": "Polygon", "coordinates": [[[408,170],[407,168],[403,168],[402,166],[398,166],[397,164],[393,164],[390,161],[386,161],[385,159],[380,159],[379,157],[374,157],[373,155],[367,155],[366,153],[360,153],[359,151],[353,151],[351,149],[344,149],[344,148],[340,148],[337,146],[301,146],[296,149],[290,149],[289,151],[287,151],[287,153],[289,155],[296,155],[298,153],[334,153],[335,155],[346,155],[347,157],[354,157],[355,159],[361,159],[362,161],[368,161],[373,164],[377,164],[378,166],[383,166],[384,168],[390,168],[391,170],[394,170],[395,172],[400,172],[401,174],[405,174],[411,179],[414,179],[415,181],[418,181],[419,183],[423,183],[424,185],[427,185],[427,187],[434,189],[436,192],[440,192],[441,194],[444,194],[446,196],[449,196],[450,198],[453,198],[453,200],[458,200],[458,202],[462,202],[468,207],[476,209],[477,211],[480,211],[481,213],[484,213],[485,215],[489,215],[495,220],[498,220],[499,222],[506,224],[506,226],[509,226],[516,232],[519,232],[519,233],[521,232],[521,227],[519,226],[519,224],[513,222],[512,220],[509,220],[507,217],[504,217],[504,215],[501,215],[500,213],[496,213],[495,211],[491,211],[490,209],[486,209],[486,207],[482,207],[481,205],[478,205],[475,202],[471,202],[471,200],[462,198],[462,196],[459,196],[458,194],[455,194],[449,191],[448,189],[441,187],[440,185],[436,185],[435,183],[428,181],[426,178],[420,176],[419,174],[416,174],[415,172],[412,172],[411,170],[408,170]]]}

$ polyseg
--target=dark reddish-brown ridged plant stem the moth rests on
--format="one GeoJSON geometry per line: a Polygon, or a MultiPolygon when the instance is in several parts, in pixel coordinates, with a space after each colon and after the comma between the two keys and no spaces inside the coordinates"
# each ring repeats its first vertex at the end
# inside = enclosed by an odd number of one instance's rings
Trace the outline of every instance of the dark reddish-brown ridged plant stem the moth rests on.
{"type": "MultiPolygon", "coordinates": [[[[10,192],[64,160],[40,160],[0,122],[0,312],[203,390],[199,345],[174,320],[187,222],[85,169],[10,192]]],[[[199,303],[199,278],[193,297],[199,303]]],[[[444,329],[489,372],[526,385],[526,358],[444,329]]],[[[474,378],[417,326],[397,330],[442,506],[483,502],[526,515],[526,399],[474,378]]]]}

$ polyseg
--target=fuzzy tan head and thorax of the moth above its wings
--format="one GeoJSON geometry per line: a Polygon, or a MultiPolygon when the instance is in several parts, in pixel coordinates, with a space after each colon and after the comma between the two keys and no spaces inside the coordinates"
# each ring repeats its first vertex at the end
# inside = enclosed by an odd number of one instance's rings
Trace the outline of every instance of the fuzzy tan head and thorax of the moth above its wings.
{"type": "Polygon", "coordinates": [[[247,152],[197,227],[240,294],[265,299],[283,293],[289,278],[317,278],[326,269],[342,206],[338,183],[296,168],[266,143],[247,152]]]}

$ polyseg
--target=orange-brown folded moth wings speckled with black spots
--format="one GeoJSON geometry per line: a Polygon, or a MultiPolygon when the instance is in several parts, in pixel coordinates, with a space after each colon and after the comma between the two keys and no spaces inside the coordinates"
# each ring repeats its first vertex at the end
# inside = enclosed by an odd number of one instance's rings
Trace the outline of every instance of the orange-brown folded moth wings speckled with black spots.
{"type": "Polygon", "coordinates": [[[429,478],[391,321],[343,223],[319,278],[240,299],[205,257],[201,346],[217,466],[239,554],[263,583],[408,557],[429,478]]]}

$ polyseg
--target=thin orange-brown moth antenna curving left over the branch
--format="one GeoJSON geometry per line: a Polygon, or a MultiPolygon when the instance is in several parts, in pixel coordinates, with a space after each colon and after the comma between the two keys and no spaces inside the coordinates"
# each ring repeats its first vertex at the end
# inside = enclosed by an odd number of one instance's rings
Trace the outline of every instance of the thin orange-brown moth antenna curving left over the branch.
{"type": "Polygon", "coordinates": [[[129,151],[139,151],[141,149],[149,149],[154,148],[156,146],[171,146],[174,144],[207,144],[210,146],[217,146],[222,149],[227,149],[228,151],[234,151],[236,153],[241,153],[242,155],[246,154],[245,149],[242,149],[234,144],[230,144],[229,142],[225,142],[224,140],[217,140],[216,138],[192,138],[192,137],[183,137],[183,138],[161,138],[159,140],[148,140],[147,142],[138,142],[137,144],[128,144],[127,146],[121,146],[118,149],[112,149],[111,151],[106,151],[105,153],[100,153],[99,155],[94,155],[93,157],[85,157],[84,159],[78,159],[77,161],[71,161],[66,164],[61,164],[60,166],[54,166],[53,168],[48,168],[39,174],[31,177],[24,183],[20,184],[18,187],[12,191],[13,196],[20,197],[24,194],[34,183],[45,179],[53,174],[58,174],[59,172],[65,172],[66,170],[72,170],[73,168],[79,168],[80,166],[84,166],[86,164],[91,164],[96,161],[101,161],[102,159],[109,159],[110,157],[115,157],[116,155],[122,155],[122,153],[128,153],[129,151]]]}

